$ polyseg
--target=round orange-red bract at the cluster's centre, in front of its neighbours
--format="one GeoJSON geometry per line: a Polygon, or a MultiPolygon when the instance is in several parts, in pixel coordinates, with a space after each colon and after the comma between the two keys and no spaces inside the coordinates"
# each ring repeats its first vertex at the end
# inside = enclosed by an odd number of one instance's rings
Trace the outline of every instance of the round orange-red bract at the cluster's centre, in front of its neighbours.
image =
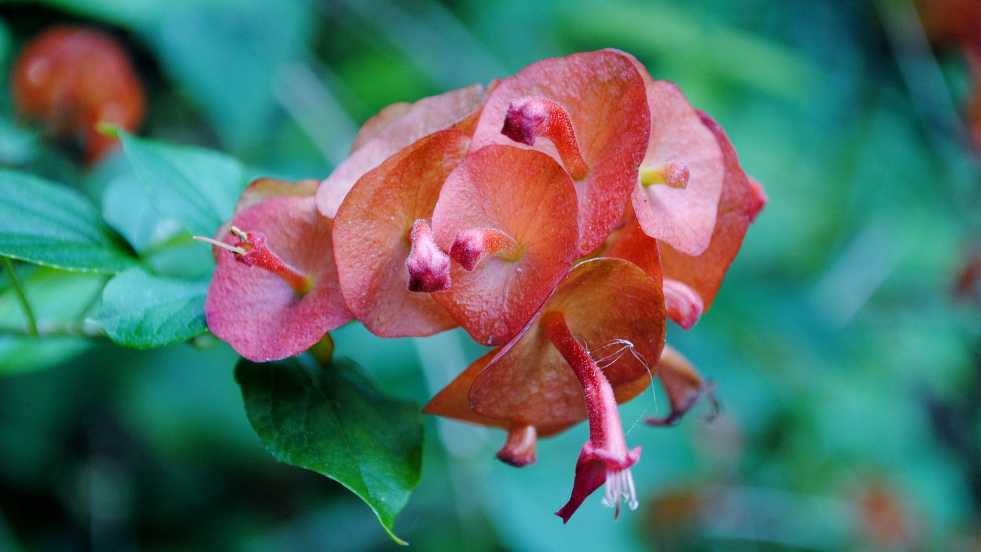
{"type": "Polygon", "coordinates": [[[502,345],[548,298],[576,257],[576,192],[540,151],[489,145],[446,179],[433,232],[449,250],[457,232],[490,228],[517,242],[513,257],[490,255],[473,271],[454,263],[452,286],[433,297],[477,342],[502,345]]]}

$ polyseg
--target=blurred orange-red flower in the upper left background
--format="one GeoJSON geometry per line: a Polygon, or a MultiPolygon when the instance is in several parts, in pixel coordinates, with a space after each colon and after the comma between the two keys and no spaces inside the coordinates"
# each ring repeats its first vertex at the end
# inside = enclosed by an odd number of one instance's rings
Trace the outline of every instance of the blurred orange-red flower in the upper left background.
{"type": "Polygon", "coordinates": [[[18,113],[43,120],[61,138],[80,138],[89,163],[116,144],[96,126],[134,132],[146,105],[126,50],[91,28],[49,28],[32,39],[15,65],[12,91],[18,113]]]}

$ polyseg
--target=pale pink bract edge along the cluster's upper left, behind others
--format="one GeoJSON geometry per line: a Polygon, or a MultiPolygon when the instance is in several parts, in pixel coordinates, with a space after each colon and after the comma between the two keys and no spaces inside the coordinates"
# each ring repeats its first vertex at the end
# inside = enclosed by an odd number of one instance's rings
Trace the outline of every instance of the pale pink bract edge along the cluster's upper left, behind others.
{"type": "Polygon", "coordinates": [[[334,218],[354,183],[398,150],[441,129],[454,128],[472,135],[481,107],[488,97],[482,84],[471,84],[423,98],[409,107],[395,104],[369,119],[344,159],[317,191],[317,208],[334,218]]]}

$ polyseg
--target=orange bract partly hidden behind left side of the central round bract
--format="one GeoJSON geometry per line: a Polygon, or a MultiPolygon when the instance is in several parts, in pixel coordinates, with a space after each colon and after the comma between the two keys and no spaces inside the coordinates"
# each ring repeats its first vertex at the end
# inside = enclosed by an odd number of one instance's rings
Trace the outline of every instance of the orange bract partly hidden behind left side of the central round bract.
{"type": "Polygon", "coordinates": [[[433,216],[443,181],[469,145],[454,130],[421,138],[361,177],[337,209],[340,291],[372,333],[425,336],[456,326],[430,294],[407,289],[405,259],[413,223],[433,216]]]}

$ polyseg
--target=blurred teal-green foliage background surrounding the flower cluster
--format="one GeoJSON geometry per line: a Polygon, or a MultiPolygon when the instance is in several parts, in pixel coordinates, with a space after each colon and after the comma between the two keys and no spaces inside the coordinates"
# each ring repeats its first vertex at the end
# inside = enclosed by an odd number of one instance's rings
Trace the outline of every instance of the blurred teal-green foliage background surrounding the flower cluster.
{"type": "MultiPolygon", "coordinates": [[[[13,117],[6,91],[25,41],[66,22],[129,49],[142,135],[228,151],[256,176],[322,179],[388,103],[611,46],[679,83],[766,187],[712,310],[669,328],[717,381],[722,416],[662,429],[635,424],[664,414],[662,396],[621,409],[644,446],[641,508],[614,523],[594,496],[568,525],[552,514],[583,425],[512,469],[493,459],[501,432],[430,417],[395,525],[412,549],[981,550],[981,316],[953,294],[981,244],[971,77],[907,0],[0,1],[0,165],[77,187],[113,223],[138,207],[129,163],[80,166],[13,117]]],[[[188,246],[155,268],[208,258],[188,246]]],[[[84,315],[102,279],[22,268],[49,316],[84,315]]],[[[0,329],[23,322],[8,285],[0,329]]],[[[419,403],[480,354],[458,331],[333,335],[337,355],[419,403]]],[[[397,548],[342,487],[275,463],[236,357],[208,341],[0,335],[0,550],[397,548]]]]}

